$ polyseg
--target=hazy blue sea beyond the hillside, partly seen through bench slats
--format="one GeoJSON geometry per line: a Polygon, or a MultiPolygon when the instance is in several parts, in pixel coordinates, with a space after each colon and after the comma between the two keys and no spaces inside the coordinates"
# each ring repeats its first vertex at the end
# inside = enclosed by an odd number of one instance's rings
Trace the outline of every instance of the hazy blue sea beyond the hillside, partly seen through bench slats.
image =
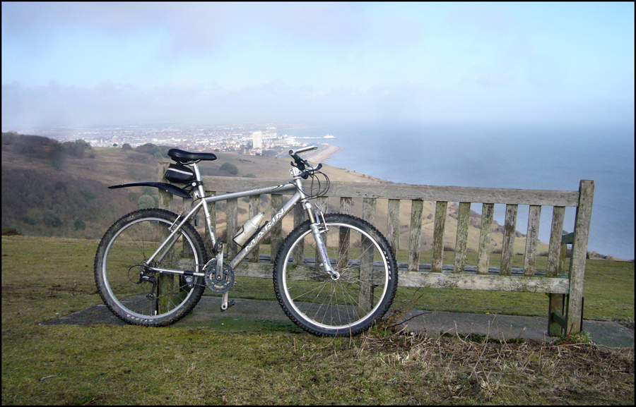
{"type": "MultiPolygon", "coordinates": [[[[578,190],[594,181],[588,251],[633,260],[634,126],[520,126],[347,121],[284,130],[298,144],[341,147],[327,164],[396,183],[484,188],[578,190]],[[335,139],[324,139],[324,135],[335,139]]],[[[481,204],[471,205],[481,213],[481,204]]],[[[529,207],[519,205],[526,233],[529,207]]],[[[505,205],[495,205],[504,223],[505,205]]],[[[565,231],[575,208],[566,208],[565,231]]],[[[543,208],[539,238],[548,242],[552,209],[543,208]]]]}

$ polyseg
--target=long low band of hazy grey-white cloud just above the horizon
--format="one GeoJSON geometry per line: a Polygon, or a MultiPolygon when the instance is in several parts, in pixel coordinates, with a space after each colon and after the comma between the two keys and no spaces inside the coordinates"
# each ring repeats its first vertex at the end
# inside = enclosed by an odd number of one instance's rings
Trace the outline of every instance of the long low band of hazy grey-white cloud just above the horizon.
{"type": "MultiPolygon", "coordinates": [[[[494,80],[497,82],[497,78],[494,80]]],[[[91,88],[2,85],[2,128],[125,123],[307,122],[407,119],[490,123],[634,125],[633,99],[514,99],[447,94],[418,83],[327,92],[274,80],[222,86],[182,79],[151,90],[105,81],[91,88]]]]}

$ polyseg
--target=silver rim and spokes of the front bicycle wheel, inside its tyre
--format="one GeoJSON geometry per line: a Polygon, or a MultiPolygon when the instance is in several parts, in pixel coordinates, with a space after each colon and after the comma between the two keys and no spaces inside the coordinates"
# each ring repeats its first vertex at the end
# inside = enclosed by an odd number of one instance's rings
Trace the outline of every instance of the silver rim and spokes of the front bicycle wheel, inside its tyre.
{"type": "Polygon", "coordinates": [[[337,269],[334,267],[340,273],[340,278],[331,279],[325,274],[322,266],[315,263],[313,267],[311,267],[311,262],[309,265],[305,263],[302,268],[295,264],[290,265],[290,257],[294,256],[294,251],[299,247],[301,241],[305,242],[305,246],[310,246],[310,249],[305,248],[305,256],[307,256],[308,250],[309,252],[315,251],[313,236],[310,231],[306,231],[293,243],[285,257],[282,275],[283,295],[290,308],[303,320],[309,321],[314,326],[330,331],[352,329],[368,322],[382,306],[389,288],[388,260],[377,241],[366,231],[343,223],[328,224],[328,228],[329,232],[327,233],[330,236],[327,238],[327,251],[332,260],[332,267],[334,263],[336,267],[340,266],[337,269]],[[341,244],[340,231],[343,228],[349,231],[348,253],[343,253],[346,248],[345,245],[341,244]],[[336,231],[336,229],[338,230],[336,231]],[[337,241],[334,236],[336,236],[337,241]],[[367,238],[367,241],[363,241],[363,237],[367,238]],[[358,247],[355,247],[356,245],[358,247]],[[363,260],[365,254],[367,258],[363,260]],[[366,273],[368,273],[368,257],[375,260],[372,272],[372,286],[374,288],[370,292],[364,291],[365,284],[360,281],[361,269],[366,268],[366,273]],[[365,262],[365,266],[361,267],[363,262],[365,262]],[[322,281],[305,280],[312,278],[322,279],[322,281]],[[364,304],[365,298],[369,298],[366,305],[364,304]],[[360,317],[361,314],[362,317],[360,317]]]}

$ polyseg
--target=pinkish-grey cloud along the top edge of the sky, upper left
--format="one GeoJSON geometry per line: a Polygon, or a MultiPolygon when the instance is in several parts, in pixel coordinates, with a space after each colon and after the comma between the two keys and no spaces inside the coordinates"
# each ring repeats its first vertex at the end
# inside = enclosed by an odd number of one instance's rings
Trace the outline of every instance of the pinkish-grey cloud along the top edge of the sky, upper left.
{"type": "Polygon", "coordinates": [[[45,51],[64,36],[165,36],[164,59],[201,59],[267,38],[279,48],[322,49],[341,57],[394,52],[420,42],[424,28],[404,11],[351,3],[20,3],[2,4],[2,35],[45,51]],[[380,9],[377,10],[377,7],[380,9]],[[8,16],[11,16],[10,18],[8,16]]]}

